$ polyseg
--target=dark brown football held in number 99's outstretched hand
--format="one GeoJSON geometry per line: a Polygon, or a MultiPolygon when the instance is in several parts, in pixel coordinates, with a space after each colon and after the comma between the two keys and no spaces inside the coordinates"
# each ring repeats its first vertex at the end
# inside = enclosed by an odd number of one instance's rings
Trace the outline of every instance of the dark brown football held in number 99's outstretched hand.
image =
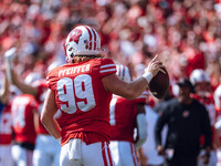
{"type": "Polygon", "coordinates": [[[169,90],[169,74],[165,68],[162,70],[165,73],[159,71],[149,82],[149,91],[158,100],[164,98],[169,90]]]}

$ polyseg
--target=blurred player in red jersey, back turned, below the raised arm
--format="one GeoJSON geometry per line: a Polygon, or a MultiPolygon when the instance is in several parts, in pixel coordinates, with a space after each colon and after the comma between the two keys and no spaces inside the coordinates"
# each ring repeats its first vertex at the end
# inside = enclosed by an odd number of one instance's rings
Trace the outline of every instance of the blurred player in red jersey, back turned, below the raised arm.
{"type": "Polygon", "coordinates": [[[17,95],[11,103],[14,143],[12,157],[17,166],[32,165],[36,138],[38,103],[30,94],[17,95]]]}

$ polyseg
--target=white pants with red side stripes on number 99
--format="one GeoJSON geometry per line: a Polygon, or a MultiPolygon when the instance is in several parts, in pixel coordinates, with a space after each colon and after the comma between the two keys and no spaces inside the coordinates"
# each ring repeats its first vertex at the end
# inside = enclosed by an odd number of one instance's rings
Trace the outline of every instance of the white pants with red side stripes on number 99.
{"type": "Polygon", "coordinates": [[[62,146],[60,166],[113,166],[107,143],[86,145],[78,138],[62,146]]]}

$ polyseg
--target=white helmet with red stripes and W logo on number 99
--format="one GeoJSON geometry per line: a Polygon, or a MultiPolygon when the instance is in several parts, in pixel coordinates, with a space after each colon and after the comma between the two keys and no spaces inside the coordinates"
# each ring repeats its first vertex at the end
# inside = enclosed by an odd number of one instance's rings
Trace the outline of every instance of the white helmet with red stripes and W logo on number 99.
{"type": "Polygon", "coordinates": [[[74,55],[96,55],[103,52],[98,33],[88,25],[74,28],[66,38],[64,50],[69,63],[74,55]]]}

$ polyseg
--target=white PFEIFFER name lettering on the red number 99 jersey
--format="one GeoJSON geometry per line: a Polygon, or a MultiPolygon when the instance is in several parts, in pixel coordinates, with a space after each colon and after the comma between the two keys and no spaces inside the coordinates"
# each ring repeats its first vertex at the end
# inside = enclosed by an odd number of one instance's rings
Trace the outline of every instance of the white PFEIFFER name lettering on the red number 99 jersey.
{"type": "Polygon", "coordinates": [[[59,76],[71,75],[71,74],[75,74],[75,73],[80,73],[80,72],[84,73],[84,72],[88,72],[88,71],[90,71],[90,64],[73,66],[73,68],[70,68],[70,69],[60,70],[59,76]]]}

